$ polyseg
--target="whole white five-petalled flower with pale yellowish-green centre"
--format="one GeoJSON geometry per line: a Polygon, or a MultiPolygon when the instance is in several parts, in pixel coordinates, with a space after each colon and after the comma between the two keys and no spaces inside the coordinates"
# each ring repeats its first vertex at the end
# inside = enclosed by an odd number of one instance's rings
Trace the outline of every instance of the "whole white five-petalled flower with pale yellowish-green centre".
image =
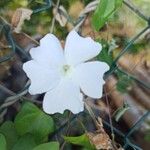
{"type": "Polygon", "coordinates": [[[40,46],[30,50],[32,60],[24,63],[23,70],[31,80],[29,93],[46,93],[43,100],[46,113],[63,113],[65,109],[73,113],[83,111],[81,91],[92,98],[102,96],[103,74],[109,67],[99,61],[87,62],[101,48],[99,43],[73,30],[67,36],[64,51],[53,34],[47,34],[40,46]]]}

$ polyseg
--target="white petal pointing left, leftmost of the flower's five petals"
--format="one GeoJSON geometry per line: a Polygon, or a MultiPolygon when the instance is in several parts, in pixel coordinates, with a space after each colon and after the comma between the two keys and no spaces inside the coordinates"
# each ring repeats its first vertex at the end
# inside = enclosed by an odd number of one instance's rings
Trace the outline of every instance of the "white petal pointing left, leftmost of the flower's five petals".
{"type": "Polygon", "coordinates": [[[32,95],[47,92],[60,81],[60,75],[57,70],[43,67],[34,60],[24,63],[23,70],[31,80],[29,93],[32,95]]]}

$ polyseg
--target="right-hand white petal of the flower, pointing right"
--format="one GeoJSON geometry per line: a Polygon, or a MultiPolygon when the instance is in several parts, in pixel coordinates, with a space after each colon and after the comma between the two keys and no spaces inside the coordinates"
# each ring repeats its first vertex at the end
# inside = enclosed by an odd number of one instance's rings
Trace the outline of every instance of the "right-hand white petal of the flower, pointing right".
{"type": "Polygon", "coordinates": [[[74,70],[73,80],[77,82],[85,95],[100,98],[103,89],[103,75],[109,69],[103,62],[93,61],[82,63],[74,70]]]}

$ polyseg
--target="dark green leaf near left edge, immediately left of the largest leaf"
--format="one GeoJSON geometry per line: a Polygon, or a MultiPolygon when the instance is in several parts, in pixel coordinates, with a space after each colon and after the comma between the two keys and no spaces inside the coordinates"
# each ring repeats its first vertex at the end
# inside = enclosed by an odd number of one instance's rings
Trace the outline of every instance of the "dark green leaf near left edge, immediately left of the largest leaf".
{"type": "Polygon", "coordinates": [[[12,146],[18,140],[18,135],[14,123],[11,121],[4,122],[0,127],[0,133],[2,133],[6,138],[7,149],[12,149],[12,146]]]}

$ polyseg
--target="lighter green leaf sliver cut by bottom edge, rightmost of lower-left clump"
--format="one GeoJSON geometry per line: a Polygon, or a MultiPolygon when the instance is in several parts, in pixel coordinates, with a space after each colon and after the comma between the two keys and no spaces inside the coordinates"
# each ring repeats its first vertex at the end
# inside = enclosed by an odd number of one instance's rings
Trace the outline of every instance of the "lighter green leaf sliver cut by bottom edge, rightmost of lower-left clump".
{"type": "Polygon", "coordinates": [[[49,142],[40,144],[35,147],[33,150],[59,150],[59,143],[58,142],[49,142]]]}

